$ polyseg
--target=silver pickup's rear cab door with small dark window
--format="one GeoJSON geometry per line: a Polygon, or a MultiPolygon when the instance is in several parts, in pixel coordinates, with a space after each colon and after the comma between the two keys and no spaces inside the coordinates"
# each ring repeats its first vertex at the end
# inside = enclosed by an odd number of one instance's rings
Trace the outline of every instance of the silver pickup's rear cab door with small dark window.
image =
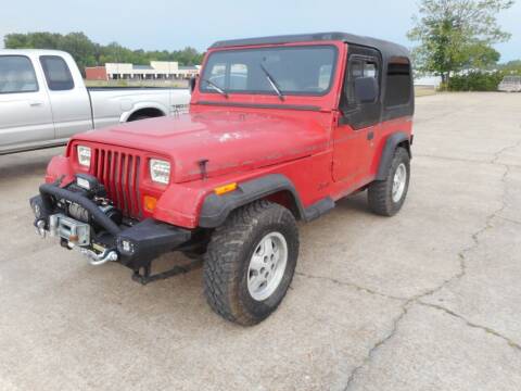
{"type": "Polygon", "coordinates": [[[51,101],[55,138],[66,139],[92,129],[89,93],[72,58],[40,55],[40,64],[51,101]]]}

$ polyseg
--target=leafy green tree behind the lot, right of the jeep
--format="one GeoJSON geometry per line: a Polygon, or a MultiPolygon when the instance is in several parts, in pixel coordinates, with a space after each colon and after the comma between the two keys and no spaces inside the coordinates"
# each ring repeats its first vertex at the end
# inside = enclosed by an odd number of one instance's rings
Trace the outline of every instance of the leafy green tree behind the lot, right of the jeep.
{"type": "Polygon", "coordinates": [[[448,85],[461,70],[496,64],[499,53],[492,45],[510,38],[496,15],[512,4],[513,0],[421,0],[408,33],[419,42],[412,51],[417,70],[440,75],[448,85]]]}

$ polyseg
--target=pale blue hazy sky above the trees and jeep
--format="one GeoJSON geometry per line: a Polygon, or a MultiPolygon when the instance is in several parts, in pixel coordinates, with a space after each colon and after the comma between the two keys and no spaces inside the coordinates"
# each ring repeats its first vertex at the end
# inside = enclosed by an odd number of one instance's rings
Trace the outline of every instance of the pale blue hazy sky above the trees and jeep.
{"type": "MultiPolygon", "coordinates": [[[[341,30],[407,47],[416,0],[1,0],[0,38],[9,33],[84,31],[93,41],[131,49],[206,49],[213,41],[266,35],[341,30]],[[9,5],[8,5],[9,4],[9,5]]],[[[512,34],[496,49],[521,59],[521,0],[499,21],[512,34]]]]}

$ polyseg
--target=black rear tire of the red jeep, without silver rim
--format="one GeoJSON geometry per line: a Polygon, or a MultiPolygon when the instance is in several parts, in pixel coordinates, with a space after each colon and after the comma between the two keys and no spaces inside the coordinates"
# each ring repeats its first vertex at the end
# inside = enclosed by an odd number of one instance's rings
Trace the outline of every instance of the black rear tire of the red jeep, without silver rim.
{"type": "Polygon", "coordinates": [[[410,156],[405,148],[398,147],[394,152],[393,160],[389,167],[384,180],[377,180],[369,185],[367,199],[370,210],[381,216],[394,216],[402,209],[407,197],[410,178],[410,156]],[[393,179],[397,167],[404,164],[406,167],[406,184],[402,198],[395,202],[393,201],[393,179]]]}

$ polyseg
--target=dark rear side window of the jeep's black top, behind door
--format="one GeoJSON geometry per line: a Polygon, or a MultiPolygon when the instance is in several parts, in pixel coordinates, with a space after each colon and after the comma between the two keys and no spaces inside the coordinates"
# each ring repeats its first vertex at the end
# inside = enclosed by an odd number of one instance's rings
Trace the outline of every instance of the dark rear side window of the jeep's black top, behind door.
{"type": "Polygon", "coordinates": [[[411,77],[410,63],[407,59],[395,59],[389,63],[385,106],[407,104],[410,101],[411,77]]]}

